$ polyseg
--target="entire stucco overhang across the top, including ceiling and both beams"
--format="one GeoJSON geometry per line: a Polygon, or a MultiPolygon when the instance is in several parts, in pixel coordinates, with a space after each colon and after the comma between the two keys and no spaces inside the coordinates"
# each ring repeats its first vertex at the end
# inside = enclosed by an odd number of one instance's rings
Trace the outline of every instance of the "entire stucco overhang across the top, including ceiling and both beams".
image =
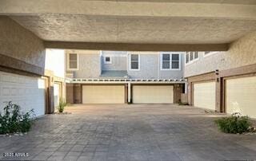
{"type": "Polygon", "coordinates": [[[2,0],[0,15],[54,49],[226,51],[256,30],[251,0],[2,0]]]}

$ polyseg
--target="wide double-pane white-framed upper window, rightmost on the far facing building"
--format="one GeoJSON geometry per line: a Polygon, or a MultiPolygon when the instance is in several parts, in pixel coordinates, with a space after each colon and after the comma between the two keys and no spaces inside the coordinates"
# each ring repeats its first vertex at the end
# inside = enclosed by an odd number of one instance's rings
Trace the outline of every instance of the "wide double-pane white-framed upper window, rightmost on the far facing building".
{"type": "Polygon", "coordinates": [[[161,56],[162,70],[180,70],[181,61],[179,53],[162,53],[161,56]]]}

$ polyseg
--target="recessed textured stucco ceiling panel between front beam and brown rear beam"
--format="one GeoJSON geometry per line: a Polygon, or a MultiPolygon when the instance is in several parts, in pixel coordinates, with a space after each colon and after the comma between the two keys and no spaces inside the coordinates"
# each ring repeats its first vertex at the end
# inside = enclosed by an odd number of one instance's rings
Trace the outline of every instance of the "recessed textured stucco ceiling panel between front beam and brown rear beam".
{"type": "Polygon", "coordinates": [[[46,41],[229,43],[256,30],[254,20],[128,18],[71,14],[12,16],[46,41]]]}

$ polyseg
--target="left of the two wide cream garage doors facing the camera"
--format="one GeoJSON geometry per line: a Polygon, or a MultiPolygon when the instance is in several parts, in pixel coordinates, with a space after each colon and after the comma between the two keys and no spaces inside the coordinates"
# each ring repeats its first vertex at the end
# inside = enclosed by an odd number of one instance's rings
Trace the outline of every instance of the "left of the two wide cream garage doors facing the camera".
{"type": "Polygon", "coordinates": [[[124,104],[124,85],[84,85],[82,86],[83,104],[124,104]]]}

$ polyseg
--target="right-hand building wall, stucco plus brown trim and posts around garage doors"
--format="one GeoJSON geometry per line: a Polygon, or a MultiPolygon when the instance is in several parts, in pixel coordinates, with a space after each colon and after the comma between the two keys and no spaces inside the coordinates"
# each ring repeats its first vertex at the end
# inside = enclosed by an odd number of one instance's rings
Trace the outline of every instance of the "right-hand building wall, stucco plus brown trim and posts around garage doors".
{"type": "Polygon", "coordinates": [[[216,110],[225,112],[225,82],[228,77],[246,77],[256,73],[256,32],[234,41],[230,50],[208,57],[201,54],[198,61],[185,67],[188,77],[188,101],[193,105],[193,84],[198,81],[216,82],[216,110]],[[218,73],[214,73],[218,69],[218,73]],[[210,72],[210,73],[209,73],[210,72]]]}

